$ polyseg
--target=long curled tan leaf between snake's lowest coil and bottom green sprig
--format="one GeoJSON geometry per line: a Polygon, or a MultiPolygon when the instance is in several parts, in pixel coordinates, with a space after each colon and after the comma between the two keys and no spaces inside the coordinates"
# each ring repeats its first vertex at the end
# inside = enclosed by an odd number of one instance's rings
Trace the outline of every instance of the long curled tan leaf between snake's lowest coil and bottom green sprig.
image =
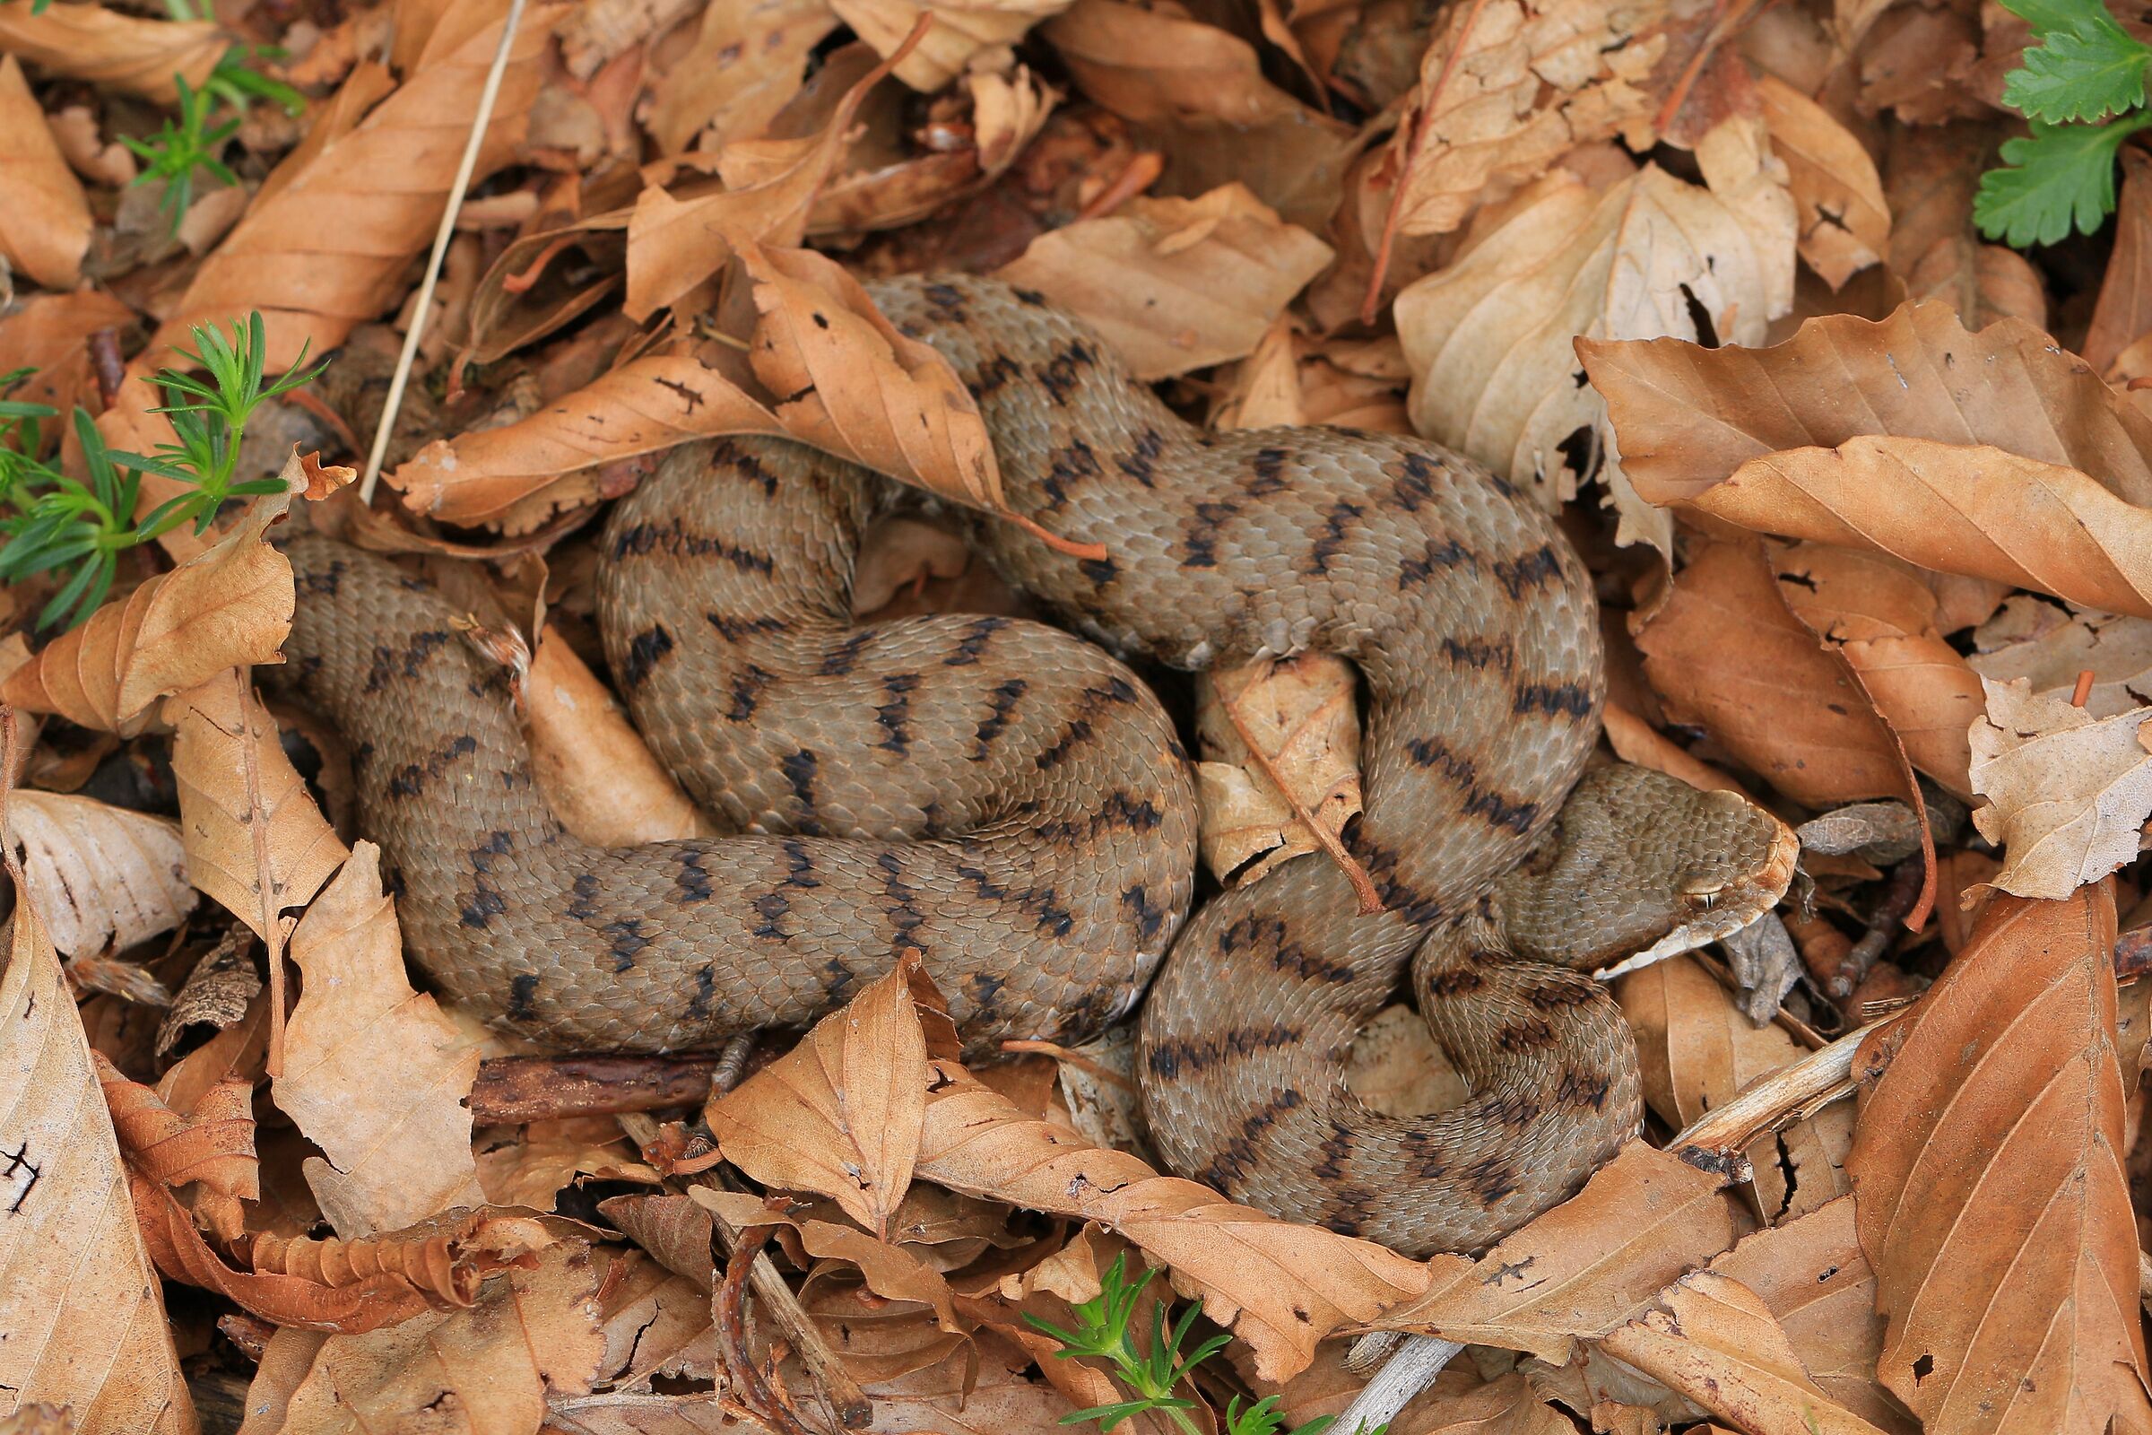
{"type": "Polygon", "coordinates": [[[1291,1377],[1317,1340],[1427,1287],[1425,1265],[1382,1246],[1220,1200],[1024,1114],[953,1063],[934,1071],[919,1179],[1110,1226],[1171,1265],[1173,1287],[1248,1342],[1263,1379],[1291,1377]]]}

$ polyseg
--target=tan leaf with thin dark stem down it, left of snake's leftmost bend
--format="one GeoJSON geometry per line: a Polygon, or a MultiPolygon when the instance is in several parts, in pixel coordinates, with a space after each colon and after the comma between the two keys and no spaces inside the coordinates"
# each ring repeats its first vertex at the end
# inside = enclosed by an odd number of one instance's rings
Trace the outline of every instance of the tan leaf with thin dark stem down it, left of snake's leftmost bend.
{"type": "Polygon", "coordinates": [[[187,880],[269,940],[275,914],[308,901],[351,854],[284,755],[275,719],[254,699],[245,669],[168,697],[164,721],[174,729],[187,880]],[[256,839],[269,861],[267,893],[256,839]]]}

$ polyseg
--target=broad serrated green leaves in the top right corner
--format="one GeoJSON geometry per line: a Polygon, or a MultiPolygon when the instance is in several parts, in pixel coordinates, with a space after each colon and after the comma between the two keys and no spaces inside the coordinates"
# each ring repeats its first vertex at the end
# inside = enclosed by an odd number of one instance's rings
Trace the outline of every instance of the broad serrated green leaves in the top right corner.
{"type": "Polygon", "coordinates": [[[2008,140],[2004,168],[1980,176],[1973,219],[2016,247],[2092,235],[2115,209],[2115,155],[2152,125],[2146,71],[2152,47],[2100,0],[2001,0],[2031,24],[2034,45],[2004,77],[2004,103],[2031,133],[2008,140]]]}

